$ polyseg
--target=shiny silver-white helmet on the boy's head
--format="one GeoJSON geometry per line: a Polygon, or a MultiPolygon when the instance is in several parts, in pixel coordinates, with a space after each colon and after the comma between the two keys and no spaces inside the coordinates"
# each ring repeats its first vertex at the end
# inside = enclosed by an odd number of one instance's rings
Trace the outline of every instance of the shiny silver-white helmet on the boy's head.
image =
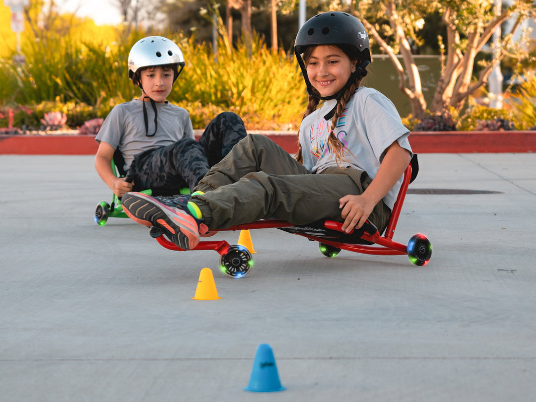
{"type": "Polygon", "coordinates": [[[140,68],[173,65],[173,82],[184,67],[184,56],[181,49],[171,40],[163,36],[147,36],[137,41],[129,53],[129,78],[132,79],[140,68]],[[178,66],[181,66],[178,69],[178,66]]]}

